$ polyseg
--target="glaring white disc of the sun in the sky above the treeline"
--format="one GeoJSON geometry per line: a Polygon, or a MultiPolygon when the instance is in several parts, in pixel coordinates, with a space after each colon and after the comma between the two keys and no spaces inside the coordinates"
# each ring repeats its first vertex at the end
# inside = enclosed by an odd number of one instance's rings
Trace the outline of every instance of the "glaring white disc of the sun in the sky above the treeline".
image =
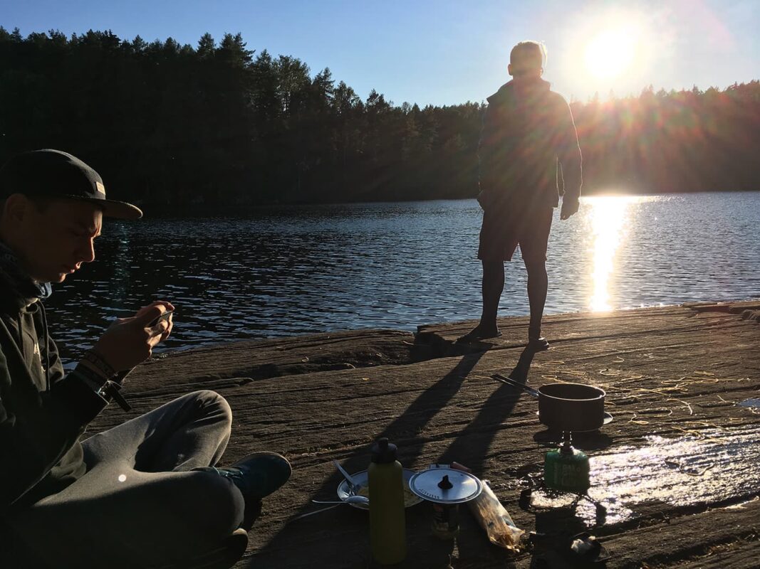
{"type": "Polygon", "coordinates": [[[601,31],[586,44],[586,68],[600,79],[619,77],[631,67],[637,50],[636,30],[620,27],[601,31]]]}

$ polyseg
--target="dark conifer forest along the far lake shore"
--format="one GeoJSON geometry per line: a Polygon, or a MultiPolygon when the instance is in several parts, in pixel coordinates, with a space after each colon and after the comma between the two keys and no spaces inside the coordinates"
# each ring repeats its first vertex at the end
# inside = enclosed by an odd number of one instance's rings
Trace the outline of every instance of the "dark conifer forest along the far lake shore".
{"type": "MultiPolygon", "coordinates": [[[[586,194],[760,190],[758,80],[571,106],[586,194]]],[[[0,163],[66,150],[154,212],[473,197],[483,108],[363,99],[240,34],[194,47],[0,27],[0,163]]]]}

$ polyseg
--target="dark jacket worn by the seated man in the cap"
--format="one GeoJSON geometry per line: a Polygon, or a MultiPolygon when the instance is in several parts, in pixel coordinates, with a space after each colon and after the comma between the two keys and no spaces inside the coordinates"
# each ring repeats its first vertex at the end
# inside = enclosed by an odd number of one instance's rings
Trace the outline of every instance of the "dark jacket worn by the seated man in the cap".
{"type": "Polygon", "coordinates": [[[0,275],[0,514],[59,492],[85,472],[79,438],[106,399],[65,376],[44,309],[0,275]]]}

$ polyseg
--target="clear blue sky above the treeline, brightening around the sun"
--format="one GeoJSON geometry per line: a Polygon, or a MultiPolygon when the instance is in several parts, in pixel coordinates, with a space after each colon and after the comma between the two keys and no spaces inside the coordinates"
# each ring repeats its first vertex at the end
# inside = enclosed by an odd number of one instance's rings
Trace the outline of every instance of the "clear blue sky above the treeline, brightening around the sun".
{"type": "Polygon", "coordinates": [[[376,89],[398,105],[482,101],[522,39],[546,44],[544,77],[568,98],[760,78],[758,0],[0,0],[0,25],[193,46],[240,32],[249,49],[293,55],[312,75],[329,67],[359,96],[376,89]]]}

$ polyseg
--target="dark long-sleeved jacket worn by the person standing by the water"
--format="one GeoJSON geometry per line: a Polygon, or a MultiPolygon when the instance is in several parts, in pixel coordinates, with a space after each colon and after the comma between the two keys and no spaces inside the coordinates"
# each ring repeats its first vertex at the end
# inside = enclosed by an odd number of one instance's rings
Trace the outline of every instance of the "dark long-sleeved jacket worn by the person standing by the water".
{"type": "Polygon", "coordinates": [[[565,99],[536,78],[506,83],[488,103],[478,149],[483,208],[556,207],[562,188],[565,200],[577,200],[581,148],[565,99]]]}

